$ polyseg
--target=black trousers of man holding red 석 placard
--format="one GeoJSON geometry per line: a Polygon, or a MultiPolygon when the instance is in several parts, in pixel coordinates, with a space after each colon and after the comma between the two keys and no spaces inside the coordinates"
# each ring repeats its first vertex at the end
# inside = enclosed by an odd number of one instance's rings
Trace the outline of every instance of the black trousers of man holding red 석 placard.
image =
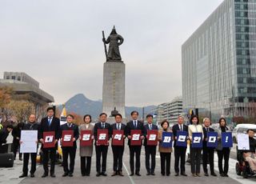
{"type": "Polygon", "coordinates": [[[124,151],[124,146],[112,146],[113,152],[113,170],[122,172],[122,155],[124,151]]]}

